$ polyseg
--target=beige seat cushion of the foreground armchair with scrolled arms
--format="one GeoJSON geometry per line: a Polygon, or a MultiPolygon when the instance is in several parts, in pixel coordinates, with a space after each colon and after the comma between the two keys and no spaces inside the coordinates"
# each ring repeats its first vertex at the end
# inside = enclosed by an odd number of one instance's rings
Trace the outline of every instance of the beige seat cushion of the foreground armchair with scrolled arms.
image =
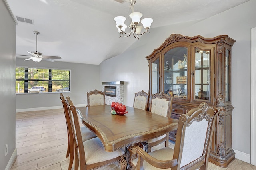
{"type": "MultiPolygon", "coordinates": [[[[165,147],[165,148],[150,152],[148,154],[158,160],[171,160],[173,157],[173,152],[174,152],[174,150],[172,148],[165,147]]],[[[138,158],[136,158],[132,161],[132,163],[134,164],[135,167],[137,165],[137,162],[138,162],[138,158]]],[[[143,168],[144,168],[144,170],[162,170],[160,168],[156,168],[156,167],[150,165],[145,160],[143,161],[143,168]]],[[[170,169],[172,169],[172,168],[165,169],[165,170],[170,170],[170,169]]]]}

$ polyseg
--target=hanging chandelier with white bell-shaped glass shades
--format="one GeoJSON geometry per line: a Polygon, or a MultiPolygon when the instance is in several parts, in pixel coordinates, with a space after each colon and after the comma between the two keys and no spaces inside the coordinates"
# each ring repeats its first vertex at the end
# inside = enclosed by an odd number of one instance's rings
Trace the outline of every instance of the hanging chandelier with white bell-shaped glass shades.
{"type": "MultiPolygon", "coordinates": [[[[130,33],[126,33],[125,29],[127,28],[127,26],[124,24],[124,21],[126,20],[126,18],[124,16],[117,16],[114,18],[114,20],[116,21],[116,27],[118,29],[118,32],[120,33],[120,37],[129,37],[131,34],[135,37],[139,39],[139,36],[148,32],[148,29],[151,26],[151,23],[153,22],[152,18],[144,18],[141,20],[141,23],[143,24],[143,27],[145,28],[145,32],[140,34],[141,30],[142,30],[142,26],[139,26],[138,24],[140,23],[140,18],[142,17],[142,13],[140,12],[133,12],[133,7],[135,4],[135,0],[130,0],[130,8],[132,8],[132,13],[129,15],[130,18],[132,18],[132,22],[129,26],[130,28],[130,33]]],[[[119,37],[119,38],[120,38],[119,37]]]]}

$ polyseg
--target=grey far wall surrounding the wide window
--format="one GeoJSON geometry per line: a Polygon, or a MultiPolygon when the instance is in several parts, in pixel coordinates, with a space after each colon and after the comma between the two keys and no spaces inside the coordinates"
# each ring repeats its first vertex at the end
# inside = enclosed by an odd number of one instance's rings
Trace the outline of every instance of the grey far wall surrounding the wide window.
{"type": "MultiPolygon", "coordinates": [[[[24,61],[22,58],[16,58],[16,66],[24,67],[44,67],[54,69],[70,69],[70,93],[63,93],[64,97],[69,96],[73,103],[87,104],[87,92],[102,89],[100,82],[100,66],[79,63],[65,63],[65,62],[49,62],[40,61],[38,63],[28,60],[24,61]],[[86,99],[86,101],[84,101],[86,99]]],[[[60,93],[40,93],[40,94],[16,94],[16,109],[17,111],[27,110],[41,110],[53,109],[62,107],[60,101],[60,93]]]]}

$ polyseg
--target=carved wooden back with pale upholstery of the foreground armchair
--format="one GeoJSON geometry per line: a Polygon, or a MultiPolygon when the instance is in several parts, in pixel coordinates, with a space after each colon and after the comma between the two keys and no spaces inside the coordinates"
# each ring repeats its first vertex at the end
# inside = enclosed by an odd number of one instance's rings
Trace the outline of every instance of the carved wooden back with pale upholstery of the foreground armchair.
{"type": "Polygon", "coordinates": [[[177,169],[197,169],[200,166],[207,169],[210,142],[218,112],[219,109],[202,102],[180,116],[173,156],[178,160],[177,167],[180,168],[177,169]]]}

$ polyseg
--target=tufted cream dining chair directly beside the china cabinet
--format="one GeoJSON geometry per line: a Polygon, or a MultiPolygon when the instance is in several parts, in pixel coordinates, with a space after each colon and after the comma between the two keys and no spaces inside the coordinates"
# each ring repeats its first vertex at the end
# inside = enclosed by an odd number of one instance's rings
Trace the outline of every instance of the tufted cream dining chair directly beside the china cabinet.
{"type": "MultiPolygon", "coordinates": [[[[149,111],[170,118],[172,110],[172,99],[173,97],[163,92],[150,95],[149,111]]],[[[142,144],[145,146],[145,151],[149,153],[151,152],[151,148],[153,146],[157,146],[163,142],[165,147],[169,145],[169,133],[144,141],[142,144]]]]}

